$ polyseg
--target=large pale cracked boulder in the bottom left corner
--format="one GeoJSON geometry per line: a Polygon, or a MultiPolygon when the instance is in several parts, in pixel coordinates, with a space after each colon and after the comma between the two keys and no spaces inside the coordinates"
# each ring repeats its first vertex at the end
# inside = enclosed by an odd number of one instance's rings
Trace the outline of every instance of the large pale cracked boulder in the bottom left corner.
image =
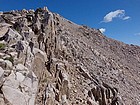
{"type": "Polygon", "coordinates": [[[38,80],[35,75],[24,76],[20,72],[11,72],[2,86],[2,92],[12,105],[34,105],[38,80]]]}

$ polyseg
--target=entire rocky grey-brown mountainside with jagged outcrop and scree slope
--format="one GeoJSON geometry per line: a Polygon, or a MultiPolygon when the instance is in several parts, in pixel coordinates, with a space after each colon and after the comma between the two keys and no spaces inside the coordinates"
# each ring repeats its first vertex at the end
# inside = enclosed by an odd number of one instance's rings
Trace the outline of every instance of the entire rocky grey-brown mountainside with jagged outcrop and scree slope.
{"type": "Polygon", "coordinates": [[[0,105],[139,104],[139,46],[46,7],[0,15],[0,105]]]}

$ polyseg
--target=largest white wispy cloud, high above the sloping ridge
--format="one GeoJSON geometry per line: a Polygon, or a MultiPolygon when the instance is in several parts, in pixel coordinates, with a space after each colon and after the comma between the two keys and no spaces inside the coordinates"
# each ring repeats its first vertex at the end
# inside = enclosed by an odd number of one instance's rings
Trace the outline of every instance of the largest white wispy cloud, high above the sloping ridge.
{"type": "Polygon", "coordinates": [[[125,16],[125,10],[116,10],[116,11],[112,11],[110,13],[108,13],[102,22],[111,22],[113,21],[114,18],[119,18],[119,19],[122,19],[122,20],[127,20],[129,19],[130,17],[129,16],[125,16]]]}

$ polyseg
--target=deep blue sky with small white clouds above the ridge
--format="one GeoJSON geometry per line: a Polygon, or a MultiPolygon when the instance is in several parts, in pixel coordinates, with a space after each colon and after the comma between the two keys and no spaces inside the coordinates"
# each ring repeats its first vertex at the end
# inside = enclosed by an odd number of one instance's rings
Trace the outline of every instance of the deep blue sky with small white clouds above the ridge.
{"type": "Polygon", "coordinates": [[[44,6],[110,38],[140,45],[140,0],[0,0],[0,11],[44,6]]]}

